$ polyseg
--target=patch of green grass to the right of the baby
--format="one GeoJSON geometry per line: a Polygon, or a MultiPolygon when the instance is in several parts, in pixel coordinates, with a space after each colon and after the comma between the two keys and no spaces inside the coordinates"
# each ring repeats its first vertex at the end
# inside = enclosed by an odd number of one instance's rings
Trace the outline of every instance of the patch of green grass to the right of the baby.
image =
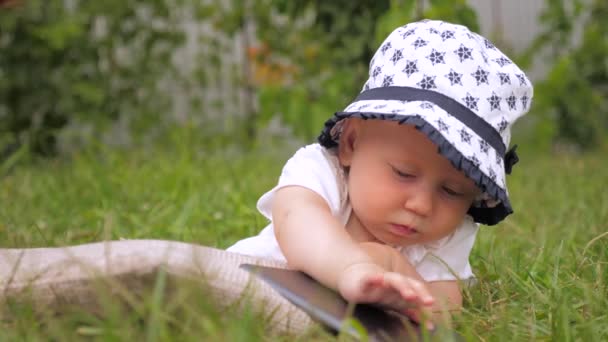
{"type": "Polygon", "coordinates": [[[484,227],[471,258],[463,327],[494,340],[608,338],[608,160],[524,156],[510,179],[516,214],[484,227]]]}

